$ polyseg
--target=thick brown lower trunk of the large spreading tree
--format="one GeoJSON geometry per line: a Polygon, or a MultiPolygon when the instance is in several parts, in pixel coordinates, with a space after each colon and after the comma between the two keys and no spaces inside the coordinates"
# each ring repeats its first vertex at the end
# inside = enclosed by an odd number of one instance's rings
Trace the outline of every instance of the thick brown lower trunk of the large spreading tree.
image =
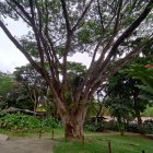
{"type": "Polygon", "coordinates": [[[69,113],[61,116],[66,139],[83,139],[83,123],[86,110],[86,107],[79,107],[76,114],[69,113]]]}

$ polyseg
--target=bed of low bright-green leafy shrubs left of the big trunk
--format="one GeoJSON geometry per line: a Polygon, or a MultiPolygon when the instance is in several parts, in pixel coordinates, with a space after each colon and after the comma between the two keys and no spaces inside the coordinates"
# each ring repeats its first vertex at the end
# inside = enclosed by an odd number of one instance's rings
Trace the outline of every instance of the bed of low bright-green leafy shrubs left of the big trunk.
{"type": "Polygon", "coordinates": [[[48,130],[51,128],[59,128],[59,121],[54,118],[36,118],[30,115],[23,114],[7,114],[0,118],[1,128],[7,128],[13,131],[28,131],[34,132],[39,129],[48,130]]]}

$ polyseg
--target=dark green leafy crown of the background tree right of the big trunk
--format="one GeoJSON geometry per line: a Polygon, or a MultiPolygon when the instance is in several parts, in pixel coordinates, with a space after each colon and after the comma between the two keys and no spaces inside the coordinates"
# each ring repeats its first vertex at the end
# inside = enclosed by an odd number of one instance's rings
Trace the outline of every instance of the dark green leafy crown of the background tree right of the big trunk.
{"type": "MultiPolygon", "coordinates": [[[[125,109],[123,110],[125,114],[127,110],[128,111],[130,110],[132,115],[136,114],[133,111],[138,111],[138,110],[140,113],[143,113],[144,109],[146,108],[148,101],[140,98],[141,90],[139,86],[142,86],[142,82],[139,80],[139,78],[132,78],[127,70],[126,71],[122,70],[121,72],[110,78],[108,87],[107,87],[107,92],[109,96],[108,99],[115,101],[115,103],[113,104],[113,106],[115,105],[114,108],[117,106],[117,103],[118,103],[119,104],[118,107],[122,107],[125,109]],[[127,107],[127,110],[126,110],[126,107],[127,107]]],[[[134,71],[134,73],[137,73],[138,71],[139,71],[139,68],[137,69],[137,71],[134,71]]]]}

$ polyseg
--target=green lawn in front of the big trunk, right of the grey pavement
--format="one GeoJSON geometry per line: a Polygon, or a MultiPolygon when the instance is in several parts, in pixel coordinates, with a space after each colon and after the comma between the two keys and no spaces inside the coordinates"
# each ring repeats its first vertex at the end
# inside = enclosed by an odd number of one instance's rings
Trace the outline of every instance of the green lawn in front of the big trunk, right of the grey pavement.
{"type": "Polygon", "coordinates": [[[111,142],[113,153],[152,153],[153,141],[133,136],[92,136],[86,137],[85,143],[56,139],[54,153],[108,153],[108,141],[111,142]]]}

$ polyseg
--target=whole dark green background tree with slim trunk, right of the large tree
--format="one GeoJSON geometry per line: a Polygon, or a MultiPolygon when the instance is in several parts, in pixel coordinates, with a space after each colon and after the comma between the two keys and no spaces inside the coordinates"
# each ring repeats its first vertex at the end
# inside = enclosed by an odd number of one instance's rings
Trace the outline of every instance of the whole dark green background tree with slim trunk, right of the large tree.
{"type": "Polygon", "coordinates": [[[106,91],[109,94],[106,105],[120,125],[125,119],[130,120],[137,117],[138,127],[142,132],[141,113],[145,110],[149,103],[139,97],[140,89],[137,85],[140,84],[142,84],[141,81],[132,79],[126,73],[115,74],[108,82],[106,91]]]}

